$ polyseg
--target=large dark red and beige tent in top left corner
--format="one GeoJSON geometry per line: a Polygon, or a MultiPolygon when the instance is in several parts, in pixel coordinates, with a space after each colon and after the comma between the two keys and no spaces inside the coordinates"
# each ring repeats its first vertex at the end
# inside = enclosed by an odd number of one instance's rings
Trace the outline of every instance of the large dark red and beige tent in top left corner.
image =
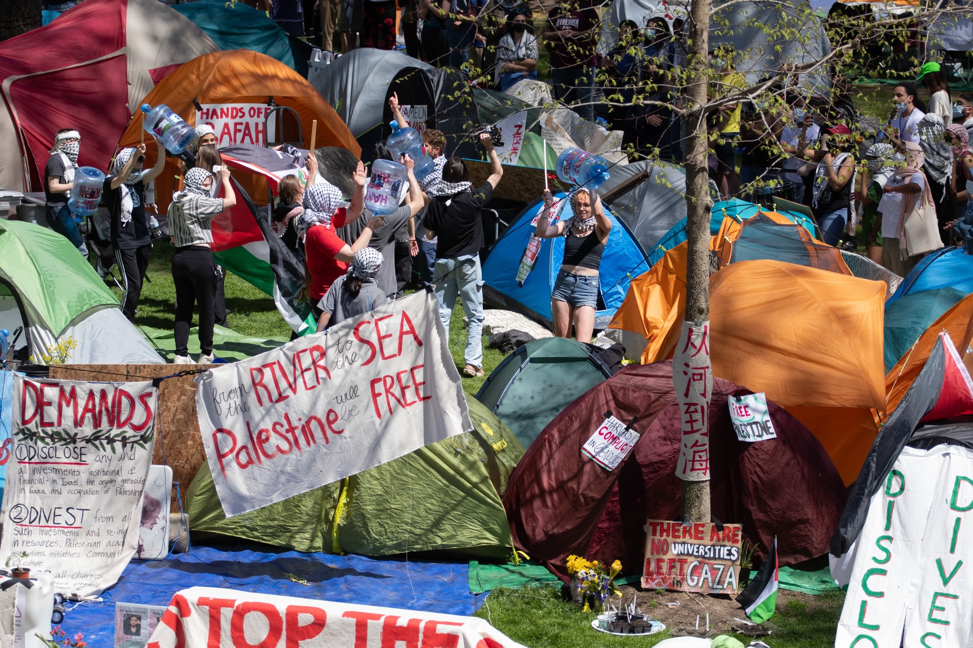
{"type": "Polygon", "coordinates": [[[59,128],[81,133],[80,164],[105,170],[149,90],[180,63],[218,50],[159,0],[86,0],[0,43],[0,188],[43,191],[59,128]]]}

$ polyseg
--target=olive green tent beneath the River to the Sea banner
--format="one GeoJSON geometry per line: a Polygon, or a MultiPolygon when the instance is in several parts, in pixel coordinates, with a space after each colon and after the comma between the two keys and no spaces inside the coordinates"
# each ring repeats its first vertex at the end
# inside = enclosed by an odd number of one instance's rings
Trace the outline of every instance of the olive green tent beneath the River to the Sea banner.
{"type": "Polygon", "coordinates": [[[507,557],[500,498],[523,446],[478,401],[467,402],[472,432],[229,520],[203,464],[187,495],[190,529],[303,552],[507,557]]]}

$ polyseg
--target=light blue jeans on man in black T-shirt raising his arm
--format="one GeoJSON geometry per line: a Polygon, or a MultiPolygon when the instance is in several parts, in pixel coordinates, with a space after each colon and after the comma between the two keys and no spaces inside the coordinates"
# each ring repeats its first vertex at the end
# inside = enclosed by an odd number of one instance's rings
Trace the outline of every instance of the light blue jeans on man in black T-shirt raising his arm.
{"type": "Polygon", "coordinates": [[[483,367],[484,282],[483,272],[480,270],[480,255],[437,259],[435,283],[439,317],[443,320],[447,340],[450,339],[452,306],[456,305],[456,295],[459,295],[470,323],[463,357],[466,364],[483,367]]]}

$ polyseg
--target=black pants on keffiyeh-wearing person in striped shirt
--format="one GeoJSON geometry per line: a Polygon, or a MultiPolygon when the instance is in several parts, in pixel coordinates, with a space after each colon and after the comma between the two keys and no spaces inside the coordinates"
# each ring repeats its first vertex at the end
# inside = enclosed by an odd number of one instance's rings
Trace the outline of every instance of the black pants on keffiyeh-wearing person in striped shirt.
{"type": "Polygon", "coordinates": [[[177,247],[172,256],[176,284],[176,355],[189,355],[189,329],[193,307],[199,306],[199,352],[213,352],[213,301],[216,296],[216,262],[207,247],[177,247]]]}

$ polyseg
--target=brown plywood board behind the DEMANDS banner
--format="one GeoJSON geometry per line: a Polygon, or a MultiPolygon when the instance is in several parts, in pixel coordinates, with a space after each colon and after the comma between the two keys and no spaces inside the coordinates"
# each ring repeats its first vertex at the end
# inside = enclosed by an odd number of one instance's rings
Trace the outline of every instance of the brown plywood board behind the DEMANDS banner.
{"type": "MultiPolygon", "coordinates": [[[[180,371],[203,369],[206,365],[52,365],[51,378],[90,380],[92,382],[137,382],[171,376],[180,371]]],[[[206,460],[199,438],[196,415],[196,382],[193,376],[162,380],[159,386],[159,433],[154,464],[172,468],[172,479],[179,483],[183,496],[189,490],[199,467],[206,460]],[[162,461],[164,451],[165,461],[162,461]]],[[[173,512],[179,504],[172,500],[173,512]]]]}

